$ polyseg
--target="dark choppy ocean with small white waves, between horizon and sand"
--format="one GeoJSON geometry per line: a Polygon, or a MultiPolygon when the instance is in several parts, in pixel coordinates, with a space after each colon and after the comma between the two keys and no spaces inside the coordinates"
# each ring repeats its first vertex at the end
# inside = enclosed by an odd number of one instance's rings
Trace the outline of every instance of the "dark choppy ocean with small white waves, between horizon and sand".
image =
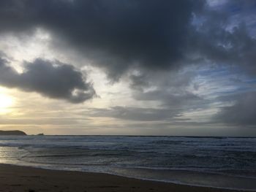
{"type": "Polygon", "coordinates": [[[0,163],[256,191],[256,138],[1,136],[0,163]]]}

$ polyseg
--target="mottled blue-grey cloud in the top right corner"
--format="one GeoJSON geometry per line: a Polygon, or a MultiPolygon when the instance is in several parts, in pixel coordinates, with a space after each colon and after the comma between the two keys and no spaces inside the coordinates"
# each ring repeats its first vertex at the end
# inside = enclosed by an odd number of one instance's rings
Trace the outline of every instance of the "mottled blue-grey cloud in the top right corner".
{"type": "MultiPolygon", "coordinates": [[[[187,53],[199,55],[211,63],[238,66],[247,74],[255,74],[256,39],[250,34],[246,20],[236,20],[230,11],[235,7],[237,15],[243,18],[246,10],[256,10],[255,3],[252,7],[245,4],[246,1],[228,1],[220,10],[206,8],[199,16],[203,22],[190,31],[187,53]]],[[[252,10],[248,12],[254,15],[252,10]]]]}

